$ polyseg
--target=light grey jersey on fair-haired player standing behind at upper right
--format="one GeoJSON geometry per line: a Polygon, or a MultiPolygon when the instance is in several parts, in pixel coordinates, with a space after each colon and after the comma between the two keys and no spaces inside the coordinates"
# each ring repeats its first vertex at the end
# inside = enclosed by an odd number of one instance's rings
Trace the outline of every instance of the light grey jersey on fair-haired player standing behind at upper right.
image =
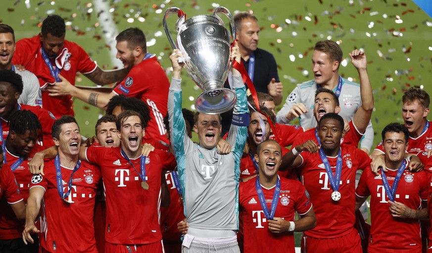
{"type": "MultiPolygon", "coordinates": [[[[303,103],[306,108],[309,109],[309,111],[300,115],[300,126],[307,128],[316,127],[317,121],[313,112],[316,91],[317,83],[315,80],[297,84],[294,90],[289,94],[282,109],[276,115],[276,121],[280,124],[289,124],[289,121],[285,115],[287,115],[295,103],[303,103]]],[[[345,78],[342,78],[342,88],[339,95],[339,106],[339,115],[347,121],[351,121],[355,112],[361,106],[360,84],[350,82],[345,78]]],[[[369,122],[364,138],[361,140],[361,147],[371,150],[373,142],[374,129],[372,128],[372,123],[369,122]]]]}

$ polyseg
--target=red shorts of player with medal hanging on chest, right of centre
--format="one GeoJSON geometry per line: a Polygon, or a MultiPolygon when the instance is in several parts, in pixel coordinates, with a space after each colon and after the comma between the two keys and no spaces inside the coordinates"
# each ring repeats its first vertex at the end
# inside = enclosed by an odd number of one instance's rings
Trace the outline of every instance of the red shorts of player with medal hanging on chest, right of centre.
{"type": "Polygon", "coordinates": [[[360,236],[356,229],[348,234],[329,239],[303,236],[301,238],[302,253],[362,253],[360,236]]]}

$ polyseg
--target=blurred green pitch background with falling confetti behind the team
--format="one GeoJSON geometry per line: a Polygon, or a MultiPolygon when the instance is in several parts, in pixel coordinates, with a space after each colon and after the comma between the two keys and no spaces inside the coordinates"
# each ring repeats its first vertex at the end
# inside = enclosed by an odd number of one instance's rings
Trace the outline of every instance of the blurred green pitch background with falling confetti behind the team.
{"type": "MultiPolygon", "coordinates": [[[[139,27],[147,36],[150,53],[155,53],[169,73],[171,47],[162,27],[165,9],[180,7],[188,17],[212,14],[217,6],[253,12],[261,27],[259,47],[274,54],[284,84],[284,100],[297,83],[313,78],[311,52],[319,40],[339,41],[344,58],[340,74],[358,79],[348,52],[364,49],[375,97],[372,115],[374,143],[381,129],[393,121],[402,122],[401,97],[404,90],[419,86],[432,94],[432,20],[411,0],[1,0],[0,22],[15,29],[16,39],[39,33],[48,14],[67,22],[66,39],[81,45],[104,69],[121,66],[110,44],[128,27],[139,27]],[[110,22],[112,20],[112,22],[110,22]]],[[[228,22],[228,19],[221,15],[228,22]]],[[[175,37],[177,16],[167,18],[175,37]]],[[[183,73],[184,104],[193,104],[200,90],[183,73]]],[[[77,85],[93,84],[77,76],[77,85]]],[[[83,135],[94,135],[101,110],[74,101],[76,118],[83,135]]],[[[279,106],[281,107],[281,106],[279,106]]]]}

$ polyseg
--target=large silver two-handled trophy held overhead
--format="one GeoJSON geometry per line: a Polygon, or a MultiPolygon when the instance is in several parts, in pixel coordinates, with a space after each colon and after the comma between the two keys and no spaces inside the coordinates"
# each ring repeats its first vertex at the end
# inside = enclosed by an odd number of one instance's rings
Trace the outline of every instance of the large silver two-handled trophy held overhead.
{"type": "Polygon", "coordinates": [[[225,7],[217,7],[213,15],[198,15],[185,20],[186,15],[177,7],[166,9],[163,27],[173,49],[180,49],[185,56],[186,70],[202,93],[195,101],[195,109],[206,114],[219,114],[234,107],[236,94],[224,88],[227,74],[231,70],[230,34],[216,13],[223,13],[230,19],[233,41],[236,39],[234,18],[225,7]],[[169,32],[166,17],[176,13],[178,32],[174,42],[169,32]],[[180,13],[180,15],[179,15],[180,13]]]}

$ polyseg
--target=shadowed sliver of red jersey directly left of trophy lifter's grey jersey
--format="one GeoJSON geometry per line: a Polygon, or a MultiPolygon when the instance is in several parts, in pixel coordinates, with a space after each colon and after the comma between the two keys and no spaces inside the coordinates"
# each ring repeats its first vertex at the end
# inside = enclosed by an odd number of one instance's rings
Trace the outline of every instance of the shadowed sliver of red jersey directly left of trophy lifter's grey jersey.
{"type": "Polygon", "coordinates": [[[180,241],[182,234],[177,229],[177,223],[185,218],[183,209],[183,199],[180,202],[180,195],[174,184],[172,173],[177,171],[167,171],[165,173],[166,183],[170,191],[170,205],[160,208],[160,230],[162,231],[162,239],[168,241],[180,241]]]}

